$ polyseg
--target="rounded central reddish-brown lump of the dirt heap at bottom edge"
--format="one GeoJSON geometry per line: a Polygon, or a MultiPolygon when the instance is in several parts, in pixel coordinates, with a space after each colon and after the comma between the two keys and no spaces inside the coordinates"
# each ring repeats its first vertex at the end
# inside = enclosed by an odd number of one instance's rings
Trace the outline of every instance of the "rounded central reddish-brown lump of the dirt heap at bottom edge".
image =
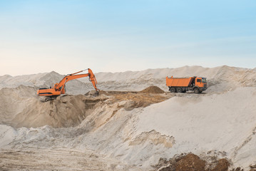
{"type": "Polygon", "coordinates": [[[175,165],[176,171],[204,171],[205,161],[194,154],[188,154],[175,165]]]}

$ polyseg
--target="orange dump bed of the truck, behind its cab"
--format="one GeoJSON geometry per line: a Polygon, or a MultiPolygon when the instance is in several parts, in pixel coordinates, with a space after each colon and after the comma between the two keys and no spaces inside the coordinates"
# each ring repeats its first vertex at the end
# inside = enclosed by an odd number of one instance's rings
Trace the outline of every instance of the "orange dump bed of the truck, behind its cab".
{"type": "Polygon", "coordinates": [[[169,87],[188,87],[190,83],[193,81],[193,77],[190,78],[173,78],[166,77],[166,86],[169,87]]]}

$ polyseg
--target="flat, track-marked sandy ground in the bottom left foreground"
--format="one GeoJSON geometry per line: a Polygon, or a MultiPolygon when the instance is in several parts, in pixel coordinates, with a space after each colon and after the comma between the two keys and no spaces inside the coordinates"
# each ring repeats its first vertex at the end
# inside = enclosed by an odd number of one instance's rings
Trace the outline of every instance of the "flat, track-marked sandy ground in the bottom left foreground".
{"type": "Polygon", "coordinates": [[[0,170],[140,170],[91,150],[23,148],[0,151],[0,170]]]}

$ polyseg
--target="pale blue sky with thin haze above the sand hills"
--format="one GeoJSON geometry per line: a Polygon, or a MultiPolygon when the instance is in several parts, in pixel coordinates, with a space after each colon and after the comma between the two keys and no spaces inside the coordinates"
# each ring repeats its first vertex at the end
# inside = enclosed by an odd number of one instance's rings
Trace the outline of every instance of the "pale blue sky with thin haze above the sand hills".
{"type": "Polygon", "coordinates": [[[256,1],[2,1],[0,76],[256,65],[256,1]]]}

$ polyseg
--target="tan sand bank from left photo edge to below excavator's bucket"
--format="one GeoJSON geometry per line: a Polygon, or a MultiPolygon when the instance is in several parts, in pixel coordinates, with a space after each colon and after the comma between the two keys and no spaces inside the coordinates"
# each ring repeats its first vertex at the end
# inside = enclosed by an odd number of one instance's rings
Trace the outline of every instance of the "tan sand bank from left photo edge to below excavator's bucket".
{"type": "Polygon", "coordinates": [[[42,103],[34,88],[2,88],[0,124],[11,125],[14,128],[36,128],[43,125],[51,125],[54,128],[76,126],[104,100],[106,97],[64,95],[42,103]]]}

